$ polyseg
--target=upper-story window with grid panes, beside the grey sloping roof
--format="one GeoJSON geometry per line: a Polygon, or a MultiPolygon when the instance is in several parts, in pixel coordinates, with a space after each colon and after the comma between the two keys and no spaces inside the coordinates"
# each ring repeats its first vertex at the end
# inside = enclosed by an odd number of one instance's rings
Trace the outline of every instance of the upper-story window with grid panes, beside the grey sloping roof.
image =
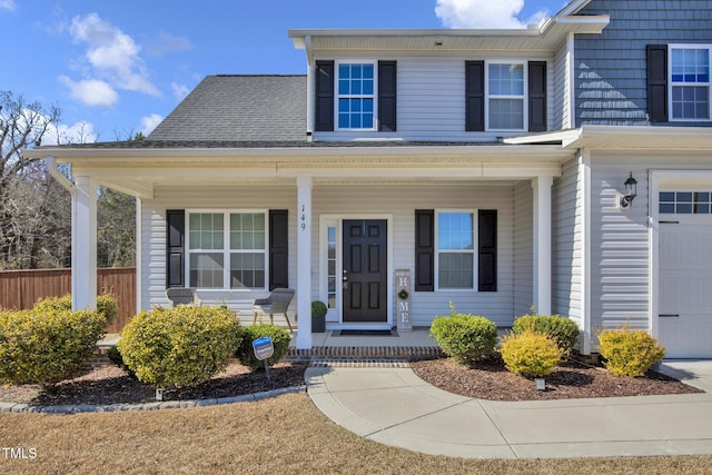
{"type": "Polygon", "coordinates": [[[375,128],[375,63],[337,65],[337,127],[344,130],[375,128]]]}

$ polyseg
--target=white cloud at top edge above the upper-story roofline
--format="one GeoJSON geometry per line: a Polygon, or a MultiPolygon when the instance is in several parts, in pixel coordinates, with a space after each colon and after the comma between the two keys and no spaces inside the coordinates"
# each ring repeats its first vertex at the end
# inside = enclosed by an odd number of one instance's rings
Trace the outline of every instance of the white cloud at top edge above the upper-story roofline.
{"type": "Polygon", "coordinates": [[[526,21],[517,16],[524,8],[524,0],[436,0],[435,14],[447,28],[525,28],[537,22],[545,12],[538,11],[526,21]]]}

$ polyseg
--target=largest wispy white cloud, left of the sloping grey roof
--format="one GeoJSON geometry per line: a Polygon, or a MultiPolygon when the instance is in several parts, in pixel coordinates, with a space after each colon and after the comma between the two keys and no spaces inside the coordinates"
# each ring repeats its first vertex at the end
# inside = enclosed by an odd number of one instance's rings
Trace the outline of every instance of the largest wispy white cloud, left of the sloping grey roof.
{"type": "Polygon", "coordinates": [[[148,79],[141,47],[113,24],[103,21],[97,13],[75,17],[69,32],[78,42],[87,43],[86,59],[91,72],[113,88],[160,96],[160,91],[148,79]]]}

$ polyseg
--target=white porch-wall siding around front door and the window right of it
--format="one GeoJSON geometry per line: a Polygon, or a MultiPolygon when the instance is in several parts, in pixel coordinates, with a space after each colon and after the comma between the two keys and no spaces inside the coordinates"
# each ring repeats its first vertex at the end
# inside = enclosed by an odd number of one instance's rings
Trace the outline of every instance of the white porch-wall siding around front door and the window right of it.
{"type": "MultiPolygon", "coordinates": [[[[387,214],[392,216],[393,268],[415,273],[415,209],[497,209],[497,291],[463,290],[412,291],[413,325],[429,326],[437,315],[449,315],[448,303],[458,311],[486,316],[501,326],[513,320],[513,255],[514,216],[512,187],[476,185],[426,186],[315,186],[313,216],[387,214]]],[[[530,211],[531,214],[531,211],[530,211]]],[[[318,226],[316,226],[318,228],[318,226]]],[[[314,235],[314,246],[318,236],[314,235]]],[[[315,253],[314,259],[318,259],[315,253]]],[[[313,268],[319,268],[314,261],[313,268]]],[[[313,289],[319,285],[313,273],[313,289]]],[[[412,274],[413,275],[413,274],[412,274]]],[[[392,277],[390,277],[392,279],[392,277]]],[[[531,288],[530,288],[531,293],[531,288]]],[[[393,301],[389,303],[393,305],[393,301]]],[[[530,303],[531,305],[531,303],[530,303]]]]}

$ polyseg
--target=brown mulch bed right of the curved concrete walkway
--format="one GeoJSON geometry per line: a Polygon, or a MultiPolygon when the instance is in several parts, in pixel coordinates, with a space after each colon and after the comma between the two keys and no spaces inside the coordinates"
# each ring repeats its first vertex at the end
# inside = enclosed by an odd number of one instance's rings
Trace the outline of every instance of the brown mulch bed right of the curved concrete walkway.
{"type": "Polygon", "coordinates": [[[660,373],[644,377],[617,377],[600,367],[567,360],[554,368],[546,390],[537,390],[533,379],[510,373],[501,357],[490,357],[472,367],[451,359],[413,362],[413,372],[441,389],[490,400],[544,400],[587,397],[651,396],[703,393],[660,373]]]}

